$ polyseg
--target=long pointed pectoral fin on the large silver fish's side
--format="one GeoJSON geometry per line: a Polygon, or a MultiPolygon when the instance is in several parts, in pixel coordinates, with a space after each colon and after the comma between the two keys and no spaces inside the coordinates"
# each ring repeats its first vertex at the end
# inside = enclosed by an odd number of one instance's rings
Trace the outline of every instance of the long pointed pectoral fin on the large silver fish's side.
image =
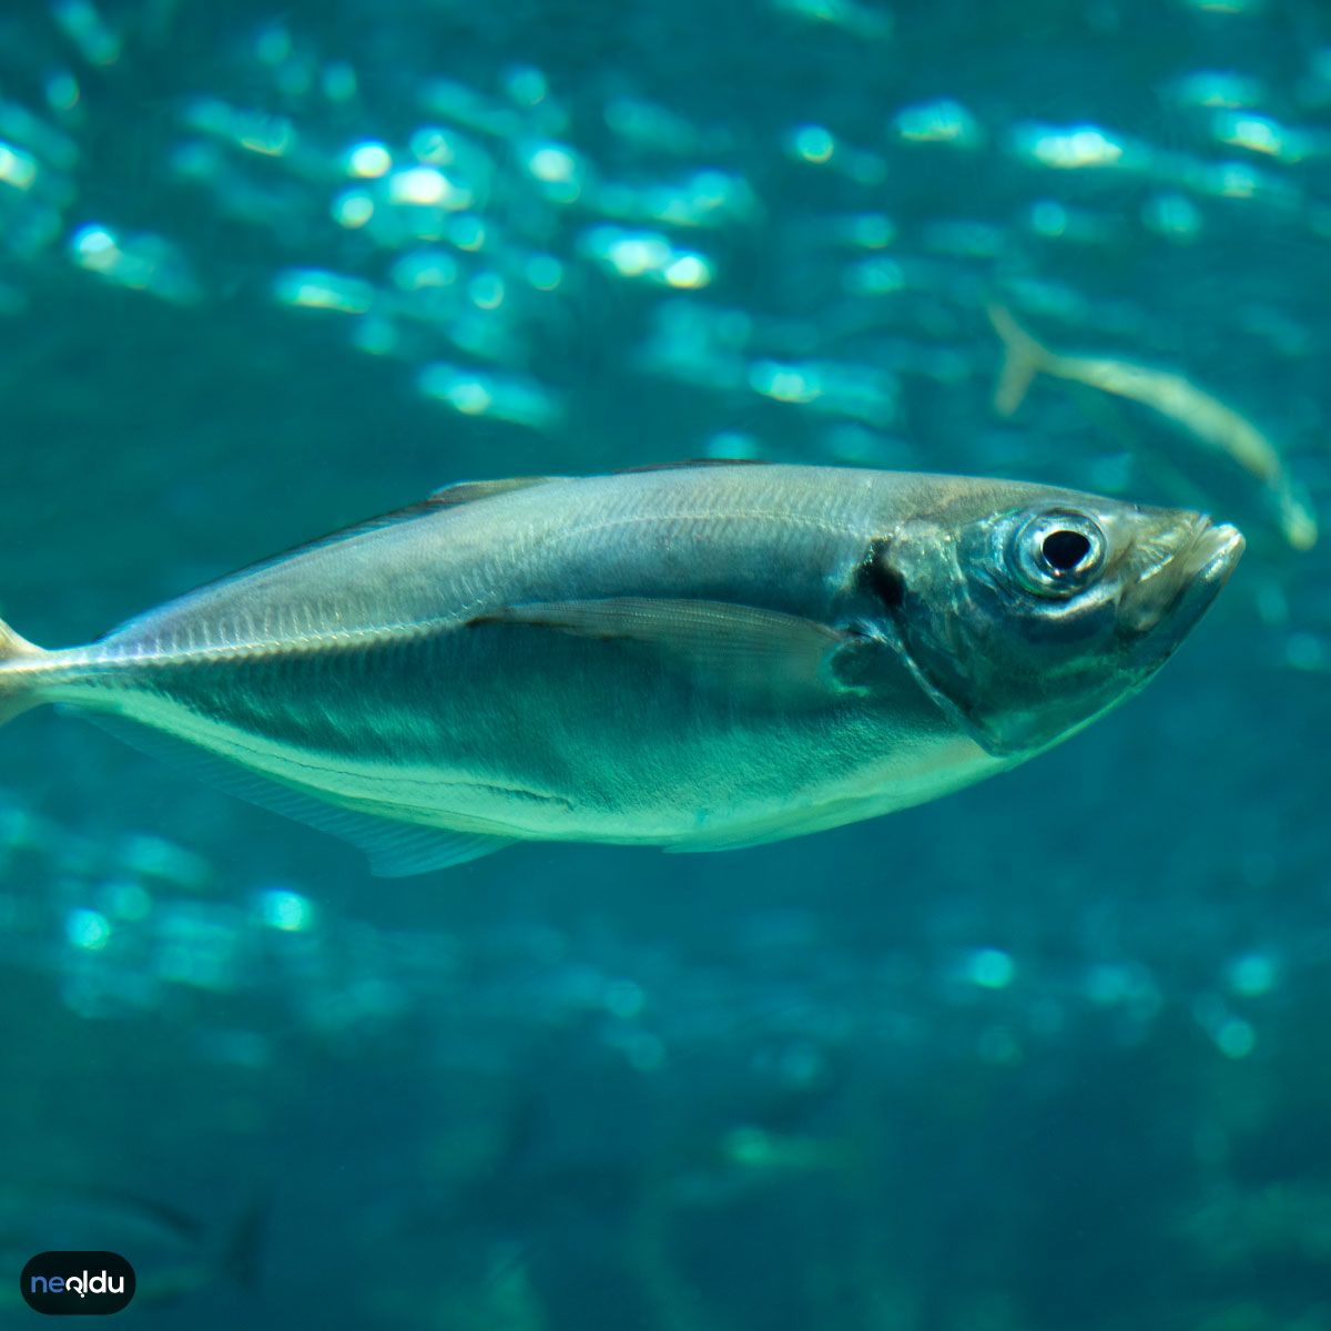
{"type": "Polygon", "coordinates": [[[847,692],[832,669],[848,635],[777,610],[724,600],[610,596],[506,606],[471,624],[524,624],[654,652],[708,683],[781,701],[825,701],[847,692]]]}

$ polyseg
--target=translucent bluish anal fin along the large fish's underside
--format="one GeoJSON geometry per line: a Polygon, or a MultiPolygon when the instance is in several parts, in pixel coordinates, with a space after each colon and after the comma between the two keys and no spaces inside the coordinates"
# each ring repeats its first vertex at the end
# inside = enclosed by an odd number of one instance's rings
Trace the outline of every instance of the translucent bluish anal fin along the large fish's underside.
{"type": "Polygon", "coordinates": [[[398,819],[326,804],[314,795],[270,780],[238,763],[116,712],[84,715],[132,748],[173,763],[228,795],[350,841],[365,852],[370,872],[379,878],[403,878],[413,873],[447,869],[512,844],[511,837],[422,827],[419,823],[402,823],[398,819]]]}

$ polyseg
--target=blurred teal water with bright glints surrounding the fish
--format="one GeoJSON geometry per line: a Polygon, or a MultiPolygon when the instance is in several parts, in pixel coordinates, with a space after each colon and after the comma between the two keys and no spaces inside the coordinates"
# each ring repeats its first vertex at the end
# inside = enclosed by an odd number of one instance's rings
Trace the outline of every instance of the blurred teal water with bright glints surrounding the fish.
{"type": "Polygon", "coordinates": [[[451,480],[692,457],[1248,536],[1086,733],[724,855],[375,880],[15,721],[0,1288],[93,1246],[125,1324],[200,1331],[1331,1328],[1327,543],[1131,403],[996,417],[994,299],[1218,394],[1324,523],[1331,8],[0,12],[0,612],[44,646],[451,480]]]}

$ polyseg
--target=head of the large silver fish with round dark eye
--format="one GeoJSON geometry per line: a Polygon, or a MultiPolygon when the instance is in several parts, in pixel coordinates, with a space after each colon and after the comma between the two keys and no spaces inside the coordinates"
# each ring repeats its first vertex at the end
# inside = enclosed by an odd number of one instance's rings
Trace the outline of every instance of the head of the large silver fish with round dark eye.
{"type": "Polygon", "coordinates": [[[912,519],[866,566],[916,680],[998,757],[1047,748],[1142,688],[1243,552],[1203,514],[1055,494],[912,519]]]}

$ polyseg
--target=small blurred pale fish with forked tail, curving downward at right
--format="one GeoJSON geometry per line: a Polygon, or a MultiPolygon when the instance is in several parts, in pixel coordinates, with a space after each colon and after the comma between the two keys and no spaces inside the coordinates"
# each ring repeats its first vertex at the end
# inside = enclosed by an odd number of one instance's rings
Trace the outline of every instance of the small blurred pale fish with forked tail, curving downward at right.
{"type": "Polygon", "coordinates": [[[998,415],[1016,414],[1040,374],[1138,402],[1181,426],[1203,450],[1230,458],[1254,476],[1268,495],[1276,526],[1291,548],[1307,551],[1318,543],[1312,500],[1290,474],[1280,451],[1219,398],[1169,370],[1109,357],[1062,355],[1032,337],[1005,306],[990,303],[985,313],[1004,345],[993,397],[998,415]]]}

